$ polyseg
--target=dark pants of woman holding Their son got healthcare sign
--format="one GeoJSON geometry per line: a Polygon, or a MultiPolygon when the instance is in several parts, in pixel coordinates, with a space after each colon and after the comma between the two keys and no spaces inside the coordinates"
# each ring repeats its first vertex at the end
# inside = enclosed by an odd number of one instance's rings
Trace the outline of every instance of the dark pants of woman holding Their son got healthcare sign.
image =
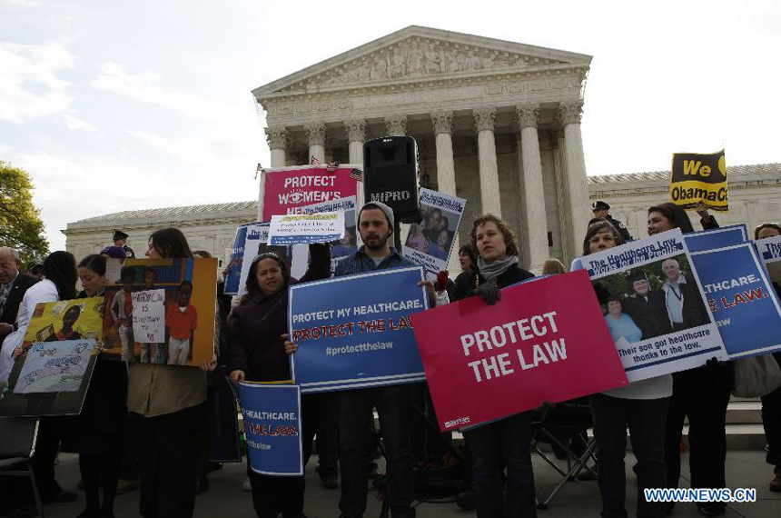
{"type": "Polygon", "coordinates": [[[602,516],[627,518],[627,476],[624,456],[627,452],[627,426],[632,451],[638,459],[638,517],[665,515],[664,503],[646,502],[643,489],[667,485],[665,465],[665,420],[669,398],[622,399],[603,393],[590,397],[597,440],[599,493],[602,516]]]}

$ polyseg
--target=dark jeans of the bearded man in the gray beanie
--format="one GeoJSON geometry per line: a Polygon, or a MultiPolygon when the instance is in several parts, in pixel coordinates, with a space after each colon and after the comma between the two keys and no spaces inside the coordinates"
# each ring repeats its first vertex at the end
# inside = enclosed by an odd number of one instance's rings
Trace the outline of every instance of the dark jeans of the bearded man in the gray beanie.
{"type": "Polygon", "coordinates": [[[377,407],[385,449],[387,490],[384,497],[394,518],[414,516],[412,447],[410,445],[411,393],[409,385],[394,385],[339,393],[339,463],[341,499],[346,518],[366,511],[369,479],[370,434],[366,423],[377,407]]]}

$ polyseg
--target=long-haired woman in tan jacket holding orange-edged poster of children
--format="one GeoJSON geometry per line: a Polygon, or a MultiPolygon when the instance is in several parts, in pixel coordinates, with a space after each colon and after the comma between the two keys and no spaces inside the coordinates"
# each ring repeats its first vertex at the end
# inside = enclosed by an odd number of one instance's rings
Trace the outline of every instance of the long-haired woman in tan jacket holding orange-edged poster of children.
{"type": "MultiPolygon", "coordinates": [[[[192,258],[184,234],[163,228],[149,237],[150,259],[192,258]]],[[[192,516],[195,508],[198,407],[206,401],[206,371],[179,365],[129,365],[127,407],[138,413],[140,513],[144,518],[192,516]]]]}

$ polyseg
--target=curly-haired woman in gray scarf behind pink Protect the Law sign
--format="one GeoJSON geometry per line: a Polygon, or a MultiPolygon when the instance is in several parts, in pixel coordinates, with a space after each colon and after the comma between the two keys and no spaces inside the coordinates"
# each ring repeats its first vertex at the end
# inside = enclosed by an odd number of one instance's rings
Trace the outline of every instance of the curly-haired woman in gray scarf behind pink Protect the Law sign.
{"type": "MultiPolygon", "coordinates": [[[[479,254],[477,270],[459,275],[456,300],[479,295],[486,304],[497,304],[501,288],[534,276],[519,266],[515,234],[498,217],[485,214],[476,219],[471,241],[479,254]]],[[[529,453],[531,421],[531,412],[516,413],[465,433],[480,518],[537,516],[529,453]],[[504,488],[502,464],[507,468],[504,488]]]]}

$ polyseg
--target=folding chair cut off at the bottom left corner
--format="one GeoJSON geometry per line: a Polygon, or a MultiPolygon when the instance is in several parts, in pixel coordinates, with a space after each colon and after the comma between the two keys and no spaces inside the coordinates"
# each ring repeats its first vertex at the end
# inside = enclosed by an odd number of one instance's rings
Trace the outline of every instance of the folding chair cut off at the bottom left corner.
{"type": "Polygon", "coordinates": [[[37,417],[0,417],[0,476],[29,476],[35,505],[43,518],[44,505],[29,463],[35,453],[37,436],[37,417]],[[25,469],[13,469],[21,467],[25,469]]]}

